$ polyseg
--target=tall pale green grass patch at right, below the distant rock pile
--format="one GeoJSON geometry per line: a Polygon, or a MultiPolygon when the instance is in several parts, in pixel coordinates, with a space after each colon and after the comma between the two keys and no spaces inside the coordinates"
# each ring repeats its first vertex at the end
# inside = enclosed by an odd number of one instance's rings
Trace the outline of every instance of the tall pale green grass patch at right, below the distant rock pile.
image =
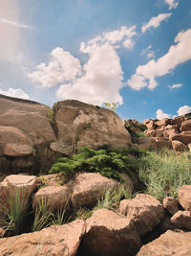
{"type": "Polygon", "coordinates": [[[177,154],[172,150],[150,151],[141,157],[139,178],[147,189],[145,193],[159,198],[178,197],[180,186],[191,184],[191,154],[177,154]]]}

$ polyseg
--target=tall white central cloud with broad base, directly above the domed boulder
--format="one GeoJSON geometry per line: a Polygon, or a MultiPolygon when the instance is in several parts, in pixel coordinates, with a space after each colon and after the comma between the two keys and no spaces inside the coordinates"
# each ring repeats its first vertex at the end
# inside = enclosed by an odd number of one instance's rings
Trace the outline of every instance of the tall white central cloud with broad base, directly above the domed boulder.
{"type": "Polygon", "coordinates": [[[106,43],[92,47],[82,45],[90,58],[84,65],[84,76],[73,83],[63,84],[56,92],[62,100],[74,99],[102,105],[104,102],[122,104],[119,89],[122,87],[122,69],[114,46],[106,43]]]}

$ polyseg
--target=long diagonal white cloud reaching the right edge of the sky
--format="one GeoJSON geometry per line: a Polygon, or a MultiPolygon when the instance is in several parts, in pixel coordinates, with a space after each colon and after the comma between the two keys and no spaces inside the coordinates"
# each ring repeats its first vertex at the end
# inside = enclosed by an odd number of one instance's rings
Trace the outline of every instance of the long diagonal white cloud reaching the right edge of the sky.
{"type": "Polygon", "coordinates": [[[136,74],[127,81],[128,85],[135,90],[146,86],[154,89],[158,85],[157,77],[170,73],[179,64],[191,59],[191,29],[180,32],[175,38],[175,43],[168,53],[157,61],[152,59],[145,65],[139,65],[136,74]]]}

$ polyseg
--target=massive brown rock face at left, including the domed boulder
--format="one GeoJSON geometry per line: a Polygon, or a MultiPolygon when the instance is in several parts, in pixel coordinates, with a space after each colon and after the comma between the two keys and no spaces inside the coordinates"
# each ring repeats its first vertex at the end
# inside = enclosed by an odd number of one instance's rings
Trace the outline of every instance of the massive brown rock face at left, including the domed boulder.
{"type": "Polygon", "coordinates": [[[130,147],[116,113],[77,101],[47,105],[0,95],[0,172],[47,170],[78,147],[130,147]]]}

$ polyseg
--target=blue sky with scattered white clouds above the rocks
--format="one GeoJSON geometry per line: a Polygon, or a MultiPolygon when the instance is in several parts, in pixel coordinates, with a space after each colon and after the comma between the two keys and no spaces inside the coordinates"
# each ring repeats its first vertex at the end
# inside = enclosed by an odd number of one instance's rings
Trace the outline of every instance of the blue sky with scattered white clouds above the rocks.
{"type": "Polygon", "coordinates": [[[0,94],[140,122],[189,112],[191,1],[0,0],[0,94]]]}

